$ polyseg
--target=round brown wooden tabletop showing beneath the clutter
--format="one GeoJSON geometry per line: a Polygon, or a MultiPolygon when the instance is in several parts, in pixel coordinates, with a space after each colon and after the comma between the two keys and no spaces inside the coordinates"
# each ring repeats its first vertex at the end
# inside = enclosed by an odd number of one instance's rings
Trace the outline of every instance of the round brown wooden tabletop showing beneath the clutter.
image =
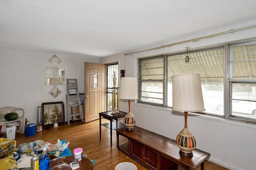
{"type": "MultiPolygon", "coordinates": [[[[74,156],[63,156],[50,160],[51,170],[72,170],[70,163],[74,159],[74,156]]],[[[95,170],[95,166],[92,161],[86,157],[82,157],[79,161],[79,168],[77,170],[95,170]]]]}

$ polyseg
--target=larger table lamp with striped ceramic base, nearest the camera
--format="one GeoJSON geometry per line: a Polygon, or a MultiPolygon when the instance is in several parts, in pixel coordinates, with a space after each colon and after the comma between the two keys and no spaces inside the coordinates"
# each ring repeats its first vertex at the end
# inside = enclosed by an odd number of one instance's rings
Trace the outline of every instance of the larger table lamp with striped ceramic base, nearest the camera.
{"type": "Polygon", "coordinates": [[[183,74],[172,76],[172,110],[184,111],[185,127],[177,135],[176,143],[180,155],[192,157],[196,148],[196,139],[188,130],[188,112],[205,111],[200,74],[183,74]]]}

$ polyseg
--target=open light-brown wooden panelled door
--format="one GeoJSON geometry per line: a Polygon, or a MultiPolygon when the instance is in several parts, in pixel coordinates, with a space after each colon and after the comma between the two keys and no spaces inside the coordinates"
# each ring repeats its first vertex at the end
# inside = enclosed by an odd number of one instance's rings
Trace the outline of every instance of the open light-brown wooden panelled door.
{"type": "Polygon", "coordinates": [[[84,121],[99,119],[105,111],[105,65],[84,63],[84,121]]]}

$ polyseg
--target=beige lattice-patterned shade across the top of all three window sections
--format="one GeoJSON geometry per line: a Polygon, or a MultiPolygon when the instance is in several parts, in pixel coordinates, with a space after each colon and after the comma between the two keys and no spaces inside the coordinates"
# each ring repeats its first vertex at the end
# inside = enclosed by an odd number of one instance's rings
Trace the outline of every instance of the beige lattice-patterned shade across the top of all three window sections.
{"type": "MultiPolygon", "coordinates": [[[[201,75],[202,83],[223,82],[224,76],[224,48],[219,47],[199,52],[188,53],[190,60],[185,62],[186,54],[170,55],[167,57],[168,78],[173,75],[197,73],[201,75]]],[[[256,59],[256,44],[234,47],[233,63],[234,79],[255,79],[256,61],[244,61],[256,59]]],[[[142,59],[140,62],[142,80],[163,79],[163,57],[142,59]]]]}

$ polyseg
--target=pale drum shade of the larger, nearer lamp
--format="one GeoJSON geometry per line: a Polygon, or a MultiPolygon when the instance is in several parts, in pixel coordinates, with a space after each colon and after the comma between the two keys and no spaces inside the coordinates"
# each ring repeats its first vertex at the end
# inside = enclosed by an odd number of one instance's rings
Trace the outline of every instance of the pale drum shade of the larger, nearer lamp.
{"type": "Polygon", "coordinates": [[[200,74],[172,76],[172,110],[205,111],[200,74]]]}

